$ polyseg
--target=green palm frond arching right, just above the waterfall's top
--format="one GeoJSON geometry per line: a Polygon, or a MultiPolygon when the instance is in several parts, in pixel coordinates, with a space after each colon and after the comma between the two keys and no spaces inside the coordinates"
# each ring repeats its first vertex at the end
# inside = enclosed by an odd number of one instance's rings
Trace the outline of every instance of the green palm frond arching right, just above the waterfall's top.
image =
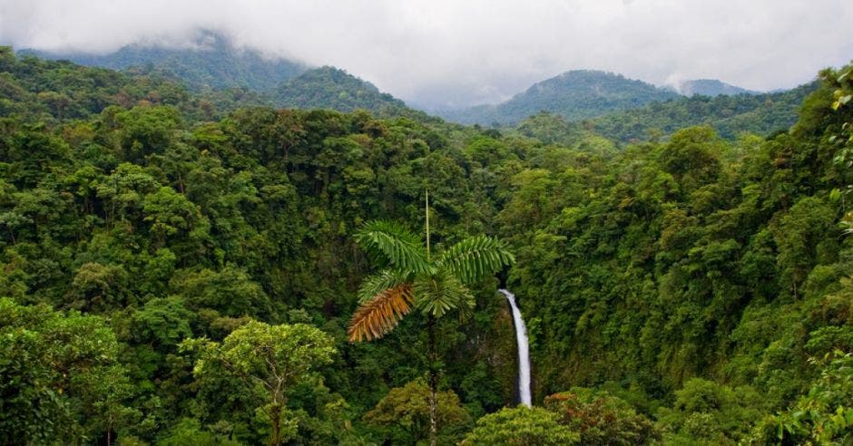
{"type": "Polygon", "coordinates": [[[495,238],[475,236],[449,247],[436,262],[463,283],[495,274],[501,268],[515,263],[515,257],[504,244],[495,238]]]}

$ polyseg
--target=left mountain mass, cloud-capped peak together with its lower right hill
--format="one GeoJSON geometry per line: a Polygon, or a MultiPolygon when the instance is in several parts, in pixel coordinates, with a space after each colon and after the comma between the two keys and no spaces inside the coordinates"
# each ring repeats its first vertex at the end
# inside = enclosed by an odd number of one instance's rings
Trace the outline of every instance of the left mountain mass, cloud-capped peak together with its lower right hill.
{"type": "Polygon", "coordinates": [[[236,48],[225,37],[211,32],[202,33],[192,47],[181,49],[132,44],[104,55],[34,50],[18,53],[172,78],[192,92],[215,95],[211,102],[234,102],[232,97],[238,97],[249,104],[337,111],[365,109],[383,116],[427,119],[425,113],[407,108],[404,102],[343,70],[330,66],[311,69],[286,59],[268,59],[257,51],[236,48]]]}

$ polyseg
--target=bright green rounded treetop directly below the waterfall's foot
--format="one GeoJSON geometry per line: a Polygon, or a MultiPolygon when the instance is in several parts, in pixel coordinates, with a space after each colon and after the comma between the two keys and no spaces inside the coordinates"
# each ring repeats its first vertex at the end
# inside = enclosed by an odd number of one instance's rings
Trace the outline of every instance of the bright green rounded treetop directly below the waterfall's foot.
{"type": "Polygon", "coordinates": [[[507,444],[545,446],[575,444],[580,435],[561,425],[554,412],[538,407],[504,408],[477,420],[464,445],[507,444]]]}

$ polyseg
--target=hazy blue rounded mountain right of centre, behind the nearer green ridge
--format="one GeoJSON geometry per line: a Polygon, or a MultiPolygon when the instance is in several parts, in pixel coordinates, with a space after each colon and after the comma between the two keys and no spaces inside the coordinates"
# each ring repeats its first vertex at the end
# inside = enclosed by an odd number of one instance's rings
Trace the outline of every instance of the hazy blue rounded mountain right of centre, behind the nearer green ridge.
{"type": "Polygon", "coordinates": [[[574,121],[612,111],[640,107],[679,97],[679,94],[621,74],[575,70],[535,83],[527,91],[497,105],[443,111],[447,120],[464,124],[515,124],[540,111],[574,121]]]}

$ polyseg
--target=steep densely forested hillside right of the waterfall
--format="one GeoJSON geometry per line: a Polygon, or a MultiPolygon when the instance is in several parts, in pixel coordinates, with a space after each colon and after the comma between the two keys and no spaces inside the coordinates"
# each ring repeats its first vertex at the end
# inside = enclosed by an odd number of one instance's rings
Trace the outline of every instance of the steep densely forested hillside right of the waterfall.
{"type": "Polygon", "coordinates": [[[759,412],[803,392],[805,358],[848,343],[850,248],[828,197],[844,179],[824,135],[848,118],[832,97],[821,87],[766,141],[693,128],[609,156],[545,148],[513,170],[499,234],[534,322],[536,392],[616,381],[663,398],[701,376],[754,386],[759,412]]]}

